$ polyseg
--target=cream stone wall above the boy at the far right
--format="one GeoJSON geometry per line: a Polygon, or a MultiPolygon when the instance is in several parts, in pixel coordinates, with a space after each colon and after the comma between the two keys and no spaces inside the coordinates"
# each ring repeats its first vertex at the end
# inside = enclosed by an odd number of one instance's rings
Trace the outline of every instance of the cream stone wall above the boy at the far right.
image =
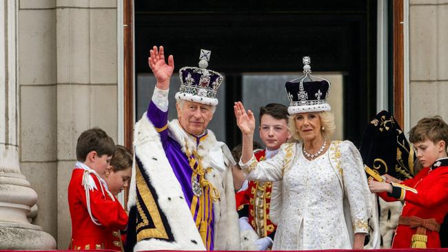
{"type": "Polygon", "coordinates": [[[448,1],[409,1],[410,126],[426,116],[448,121],[448,1]]]}

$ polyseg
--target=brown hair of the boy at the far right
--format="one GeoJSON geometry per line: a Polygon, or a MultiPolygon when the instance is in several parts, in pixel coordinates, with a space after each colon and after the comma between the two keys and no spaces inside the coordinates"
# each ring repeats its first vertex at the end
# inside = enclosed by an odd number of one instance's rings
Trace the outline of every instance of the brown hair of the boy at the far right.
{"type": "Polygon", "coordinates": [[[431,140],[433,143],[439,140],[445,141],[445,150],[448,144],[448,125],[442,117],[425,117],[418,121],[417,125],[409,131],[409,142],[418,143],[431,140]]]}

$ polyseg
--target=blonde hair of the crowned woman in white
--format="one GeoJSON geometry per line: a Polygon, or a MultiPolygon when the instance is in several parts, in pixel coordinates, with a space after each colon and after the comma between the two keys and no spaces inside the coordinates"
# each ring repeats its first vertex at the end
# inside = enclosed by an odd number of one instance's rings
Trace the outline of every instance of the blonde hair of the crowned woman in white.
{"type": "MultiPolygon", "coordinates": [[[[299,113],[301,114],[301,113],[299,113]]],[[[334,123],[334,114],[331,111],[323,111],[317,112],[320,118],[320,124],[324,129],[320,128],[320,134],[322,134],[323,138],[330,139],[333,136],[334,129],[336,129],[336,123],[334,123]]],[[[296,116],[298,114],[292,114],[288,116],[288,128],[289,132],[291,132],[292,139],[303,142],[301,135],[298,134],[296,128],[296,116]]]]}

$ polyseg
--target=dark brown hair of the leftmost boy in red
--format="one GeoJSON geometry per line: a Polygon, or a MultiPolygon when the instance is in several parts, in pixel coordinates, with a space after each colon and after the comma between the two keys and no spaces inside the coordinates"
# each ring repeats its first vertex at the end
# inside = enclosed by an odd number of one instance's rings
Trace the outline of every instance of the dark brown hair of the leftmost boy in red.
{"type": "Polygon", "coordinates": [[[103,129],[93,127],[85,130],[78,138],[77,160],[85,162],[90,151],[96,151],[98,156],[112,156],[115,152],[115,143],[103,129]]]}

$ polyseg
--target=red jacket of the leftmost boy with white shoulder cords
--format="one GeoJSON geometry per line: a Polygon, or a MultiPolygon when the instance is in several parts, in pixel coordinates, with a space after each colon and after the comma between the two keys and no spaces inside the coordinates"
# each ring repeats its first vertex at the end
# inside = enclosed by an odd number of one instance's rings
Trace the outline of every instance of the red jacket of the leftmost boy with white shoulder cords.
{"type": "Polygon", "coordinates": [[[128,215],[121,206],[119,200],[113,201],[108,193],[103,195],[100,182],[96,176],[89,174],[94,179],[97,189],[89,190],[90,209],[92,216],[101,226],[96,225],[87,209],[85,189],[82,180],[84,169],[73,169],[72,178],[68,185],[68,205],[72,218],[72,240],[70,249],[112,249],[123,250],[120,230],[124,230],[128,224],[128,215]]]}

